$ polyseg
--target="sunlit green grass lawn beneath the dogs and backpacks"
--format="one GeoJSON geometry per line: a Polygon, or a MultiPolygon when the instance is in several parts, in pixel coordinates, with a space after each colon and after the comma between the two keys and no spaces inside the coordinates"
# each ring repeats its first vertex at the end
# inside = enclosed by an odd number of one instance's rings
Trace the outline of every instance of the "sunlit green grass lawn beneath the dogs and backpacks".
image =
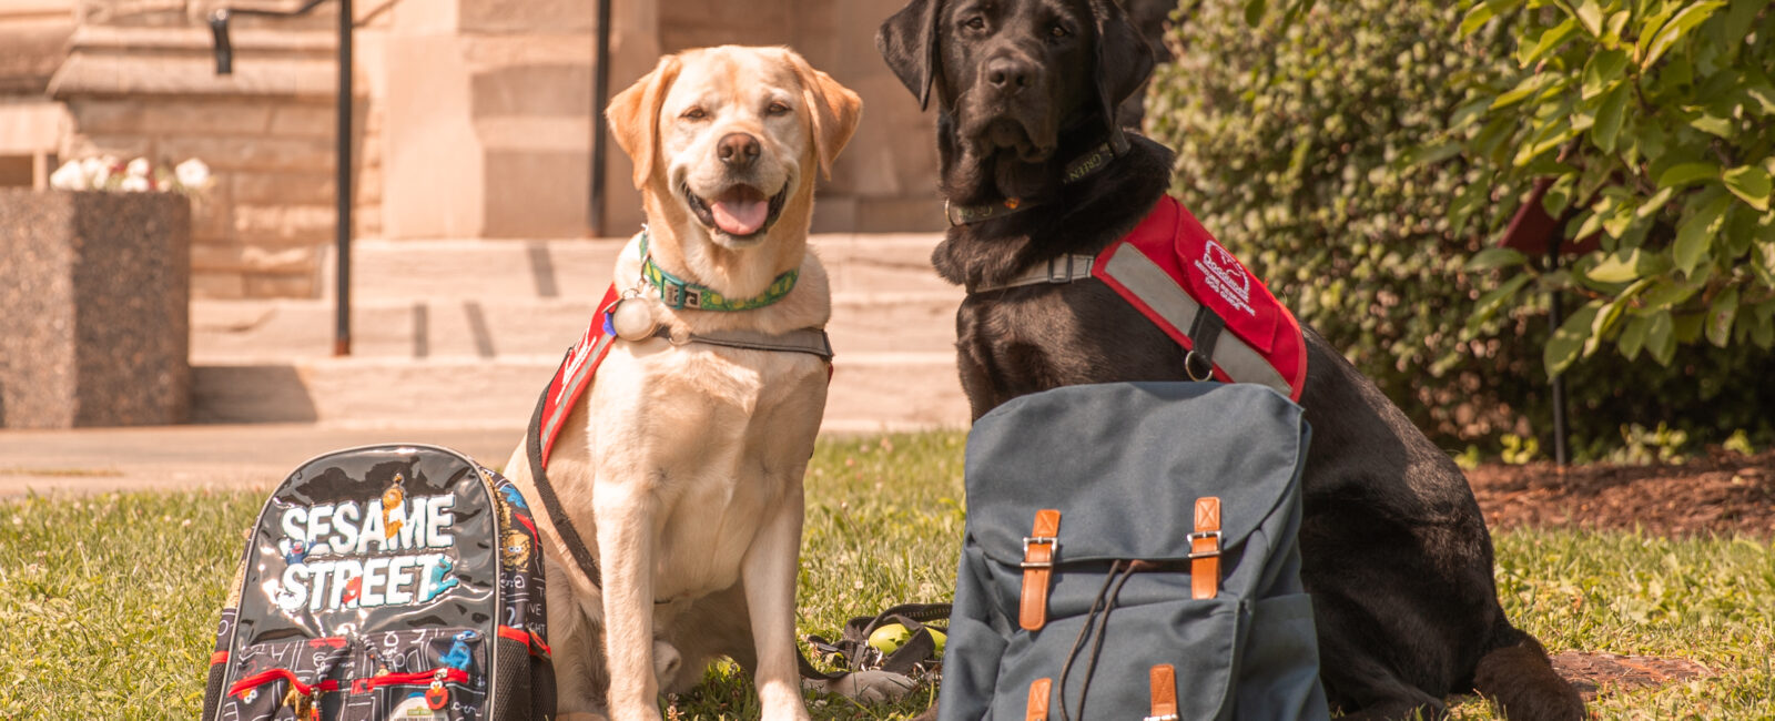
{"type": "MultiPolygon", "coordinates": [[[[801,632],[948,600],[962,533],[962,435],[824,440],[808,478],[801,632]]],[[[217,609],[263,497],[126,494],[0,503],[0,719],[195,717],[217,609]]],[[[1679,655],[1718,673],[1605,694],[1622,719],[1775,719],[1775,552],[1754,540],[1621,533],[1500,535],[1505,609],[1550,650],[1679,655]]],[[[898,707],[813,700],[820,719],[896,719],[898,707]]],[[[712,682],[667,709],[756,717],[751,684],[712,682]]],[[[1457,717],[1489,719],[1484,701],[1457,717]]]]}

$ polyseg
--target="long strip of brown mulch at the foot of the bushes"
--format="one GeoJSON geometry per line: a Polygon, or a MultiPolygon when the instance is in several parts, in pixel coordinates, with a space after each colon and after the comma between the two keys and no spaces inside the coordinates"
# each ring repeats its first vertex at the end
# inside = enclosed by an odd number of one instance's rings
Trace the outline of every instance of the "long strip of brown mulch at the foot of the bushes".
{"type": "Polygon", "coordinates": [[[1482,465],[1468,483],[1493,531],[1644,529],[1661,536],[1775,535],[1775,449],[1709,449],[1683,465],[1482,465]]]}

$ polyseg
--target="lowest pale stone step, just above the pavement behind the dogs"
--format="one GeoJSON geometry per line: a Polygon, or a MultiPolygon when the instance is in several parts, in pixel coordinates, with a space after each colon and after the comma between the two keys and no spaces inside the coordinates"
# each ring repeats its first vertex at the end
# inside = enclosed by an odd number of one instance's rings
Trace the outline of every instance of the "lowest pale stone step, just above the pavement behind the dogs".
{"type": "MultiPolygon", "coordinates": [[[[193,368],[193,421],[513,428],[529,421],[559,362],[559,353],[548,353],[201,364],[193,368]]],[[[834,368],[824,432],[967,424],[953,352],[847,353],[834,368]]]]}

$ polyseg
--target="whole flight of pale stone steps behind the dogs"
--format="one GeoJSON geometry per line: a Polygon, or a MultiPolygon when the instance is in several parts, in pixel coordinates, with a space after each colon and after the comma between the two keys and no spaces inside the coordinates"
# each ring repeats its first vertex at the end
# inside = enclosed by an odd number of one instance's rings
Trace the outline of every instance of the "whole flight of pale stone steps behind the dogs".
{"type": "MultiPolygon", "coordinates": [[[[838,350],[825,430],[967,423],[953,348],[962,291],[930,270],[937,240],[813,238],[832,277],[838,350]]],[[[195,419],[522,424],[591,321],[625,242],[357,242],[351,357],[339,359],[330,297],[192,302],[195,419]]]]}

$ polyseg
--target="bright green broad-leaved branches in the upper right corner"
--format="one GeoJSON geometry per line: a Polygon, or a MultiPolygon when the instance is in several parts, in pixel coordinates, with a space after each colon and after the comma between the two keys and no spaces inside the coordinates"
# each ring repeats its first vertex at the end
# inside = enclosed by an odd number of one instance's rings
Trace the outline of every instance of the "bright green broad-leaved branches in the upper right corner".
{"type": "MultiPolygon", "coordinates": [[[[1677,345],[1775,348],[1775,11],[1768,0],[1482,0],[1461,23],[1511,21],[1519,69],[1477,83],[1456,123],[1493,185],[1551,179],[1569,272],[1514,266],[1512,288],[1585,304],[1548,343],[1548,373],[1612,343],[1668,366],[1677,345]],[[1495,20],[1500,18],[1500,20],[1495,20]]],[[[1480,309],[1489,313],[1491,309],[1480,309]]]]}

